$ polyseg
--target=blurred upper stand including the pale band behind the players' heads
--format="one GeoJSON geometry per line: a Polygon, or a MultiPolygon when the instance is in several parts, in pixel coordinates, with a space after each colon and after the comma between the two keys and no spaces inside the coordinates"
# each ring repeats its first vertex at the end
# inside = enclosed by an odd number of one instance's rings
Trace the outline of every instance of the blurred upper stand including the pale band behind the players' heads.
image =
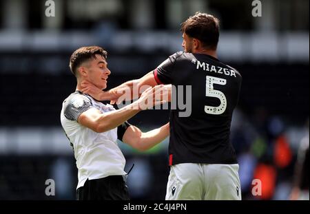
{"type": "Polygon", "coordinates": [[[126,55],[165,56],[180,50],[180,23],[201,11],[220,19],[218,54],[225,61],[309,60],[307,0],[262,0],[262,17],[252,17],[249,0],[54,0],[55,17],[45,16],[45,2],[0,2],[0,53],[71,52],[96,44],[126,55]]]}

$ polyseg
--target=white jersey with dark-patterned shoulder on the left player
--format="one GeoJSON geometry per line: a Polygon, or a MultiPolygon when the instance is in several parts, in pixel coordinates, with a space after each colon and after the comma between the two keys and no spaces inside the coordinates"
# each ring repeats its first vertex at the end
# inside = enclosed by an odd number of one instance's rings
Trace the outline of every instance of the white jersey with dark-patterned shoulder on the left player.
{"type": "Polygon", "coordinates": [[[79,183],[105,178],[110,175],[125,175],[125,158],[117,145],[117,128],[96,133],[78,121],[79,116],[90,108],[96,108],[103,114],[114,111],[112,105],[104,105],[91,96],[74,92],[63,101],[61,125],[74,149],[76,167],[79,171],[79,183]]]}

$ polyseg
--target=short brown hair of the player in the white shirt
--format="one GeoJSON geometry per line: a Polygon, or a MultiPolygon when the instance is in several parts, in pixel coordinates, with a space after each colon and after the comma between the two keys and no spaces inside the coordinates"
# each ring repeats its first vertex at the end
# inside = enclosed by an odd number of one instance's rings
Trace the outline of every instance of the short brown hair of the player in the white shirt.
{"type": "Polygon", "coordinates": [[[78,50],[74,51],[70,57],[70,70],[74,76],[76,76],[76,69],[86,61],[91,58],[96,58],[96,54],[103,56],[103,58],[107,59],[107,52],[103,50],[102,47],[98,46],[86,46],[80,47],[78,50]]]}

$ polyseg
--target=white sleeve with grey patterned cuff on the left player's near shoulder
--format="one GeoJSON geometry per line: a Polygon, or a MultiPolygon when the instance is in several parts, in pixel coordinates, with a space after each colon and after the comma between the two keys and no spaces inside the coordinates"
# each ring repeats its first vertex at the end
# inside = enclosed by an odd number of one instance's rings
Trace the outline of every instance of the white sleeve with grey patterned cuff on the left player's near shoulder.
{"type": "Polygon", "coordinates": [[[67,102],[68,103],[65,106],[63,114],[68,120],[73,120],[76,122],[78,122],[79,116],[83,112],[92,108],[92,100],[90,100],[90,98],[87,98],[86,96],[74,96],[67,102]]]}

